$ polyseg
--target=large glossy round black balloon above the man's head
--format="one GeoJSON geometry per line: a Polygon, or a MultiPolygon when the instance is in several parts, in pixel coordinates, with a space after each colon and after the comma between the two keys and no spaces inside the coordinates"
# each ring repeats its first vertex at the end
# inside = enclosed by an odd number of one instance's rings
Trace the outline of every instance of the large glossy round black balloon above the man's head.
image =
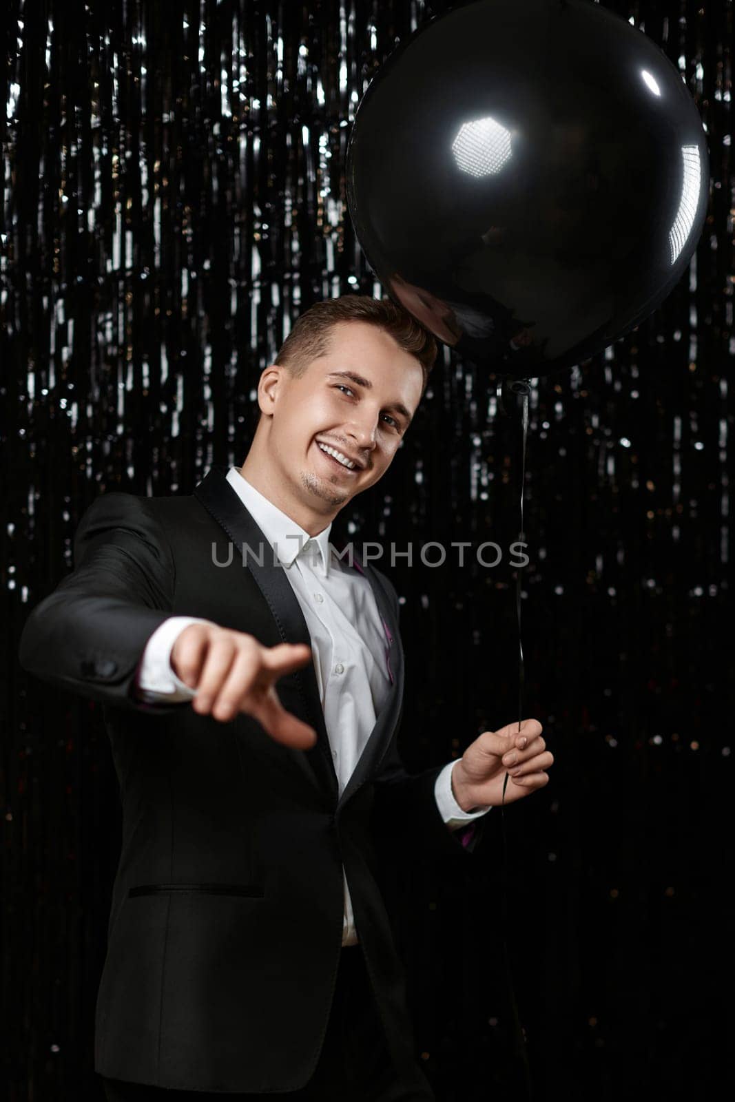
{"type": "Polygon", "coordinates": [[[681,278],[709,155],[666,54],[586,0],[476,0],[358,107],[347,197],[389,293],[500,376],[599,352],[681,278]]]}

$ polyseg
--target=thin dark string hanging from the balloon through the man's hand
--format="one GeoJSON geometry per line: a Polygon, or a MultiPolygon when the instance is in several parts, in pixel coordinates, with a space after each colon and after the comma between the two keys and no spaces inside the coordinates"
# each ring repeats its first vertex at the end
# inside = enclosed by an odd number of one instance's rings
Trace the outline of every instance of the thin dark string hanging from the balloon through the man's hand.
{"type": "MultiPolygon", "coordinates": [[[[507,417],[508,412],[502,404],[502,383],[498,383],[498,408],[500,412],[507,417]]],[[[530,393],[530,386],[527,380],[517,379],[509,383],[509,389],[517,395],[522,397],[522,442],[521,442],[521,476],[520,476],[520,534],[519,541],[525,542],[523,532],[523,488],[526,485],[526,450],[528,442],[528,396],[530,393]]],[[[521,588],[522,588],[522,566],[519,566],[516,573],[516,617],[518,619],[518,730],[521,728],[521,722],[523,717],[523,685],[525,685],[525,671],[523,671],[523,644],[521,639],[520,630],[520,609],[521,609],[521,588]]],[[[526,1034],[523,1027],[520,1023],[520,1015],[518,1013],[518,1004],[516,1002],[516,992],[512,982],[512,971],[510,966],[510,952],[508,951],[507,942],[507,931],[509,927],[509,914],[508,914],[508,840],[506,836],[506,820],[505,820],[505,802],[506,802],[506,788],[508,787],[509,774],[506,773],[505,779],[502,781],[502,801],[500,804],[500,828],[502,833],[502,880],[501,880],[501,892],[500,892],[500,916],[502,930],[502,959],[506,970],[506,977],[508,982],[508,990],[510,992],[510,1008],[514,1018],[514,1030],[516,1037],[515,1055],[519,1056],[523,1063],[523,1079],[526,1082],[527,1098],[533,1098],[533,1083],[531,1080],[531,1068],[528,1058],[528,1048],[526,1045],[526,1034]]]]}

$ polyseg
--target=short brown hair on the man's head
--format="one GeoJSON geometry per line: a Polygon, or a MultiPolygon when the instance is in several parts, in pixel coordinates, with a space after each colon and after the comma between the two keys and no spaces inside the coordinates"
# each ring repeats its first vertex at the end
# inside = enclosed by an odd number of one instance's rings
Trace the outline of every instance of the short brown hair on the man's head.
{"type": "Polygon", "coordinates": [[[391,299],[343,294],[338,299],[315,302],[299,315],[273,363],[291,368],[296,377],[302,375],[312,359],[325,354],[329,333],[339,322],[367,322],[376,325],[385,329],[403,352],[415,356],[423,371],[423,397],[429,372],[436,359],[436,342],[431,333],[391,299]]]}

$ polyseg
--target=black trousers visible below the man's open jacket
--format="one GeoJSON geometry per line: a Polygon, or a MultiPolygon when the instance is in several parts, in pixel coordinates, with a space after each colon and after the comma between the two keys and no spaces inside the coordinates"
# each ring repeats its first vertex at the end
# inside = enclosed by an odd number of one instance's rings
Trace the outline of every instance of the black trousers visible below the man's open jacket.
{"type": "Polygon", "coordinates": [[[417,1065],[409,1083],[397,1074],[359,946],[342,951],[326,1037],[314,1074],[298,1091],[223,1094],[179,1091],[100,1077],[108,1102],[435,1102],[417,1065]]]}

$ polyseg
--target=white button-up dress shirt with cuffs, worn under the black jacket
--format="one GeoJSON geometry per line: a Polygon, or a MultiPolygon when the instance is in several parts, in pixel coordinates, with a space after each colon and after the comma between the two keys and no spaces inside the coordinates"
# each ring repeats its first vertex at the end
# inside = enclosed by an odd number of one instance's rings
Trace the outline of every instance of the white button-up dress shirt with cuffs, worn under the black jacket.
{"type": "MultiPolygon", "coordinates": [[[[312,657],[324,711],[339,795],[347,786],[375,726],[390,688],[386,668],[385,633],[372,588],[358,570],[343,563],[329,545],[327,525],[310,538],[272,501],[251,486],[237,467],[227,482],[250,512],[287,577],[309,628],[312,657]]],[[[252,549],[258,558],[260,550],[252,549]]],[[[268,551],[266,551],[266,559],[268,551]]],[[[173,645],[190,624],[206,624],[195,616],[170,616],[149,639],[138,676],[140,696],[149,703],[192,700],[196,692],[171,668],[173,645]]],[[[277,684],[278,691],[278,684],[277,684]]],[[[439,774],[434,796],[442,819],[451,830],[466,825],[489,811],[463,811],[452,792],[450,761],[439,774]]],[[[344,944],[357,942],[353,906],[344,875],[344,944]]]]}

